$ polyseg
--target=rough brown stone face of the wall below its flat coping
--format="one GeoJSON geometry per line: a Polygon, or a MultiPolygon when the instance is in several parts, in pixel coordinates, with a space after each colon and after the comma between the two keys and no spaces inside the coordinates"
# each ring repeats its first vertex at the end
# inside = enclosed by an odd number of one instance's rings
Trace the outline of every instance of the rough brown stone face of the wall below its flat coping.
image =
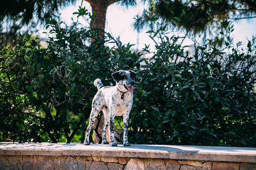
{"type": "Polygon", "coordinates": [[[0,155],[0,169],[256,169],[256,163],[112,156],[0,155]]]}

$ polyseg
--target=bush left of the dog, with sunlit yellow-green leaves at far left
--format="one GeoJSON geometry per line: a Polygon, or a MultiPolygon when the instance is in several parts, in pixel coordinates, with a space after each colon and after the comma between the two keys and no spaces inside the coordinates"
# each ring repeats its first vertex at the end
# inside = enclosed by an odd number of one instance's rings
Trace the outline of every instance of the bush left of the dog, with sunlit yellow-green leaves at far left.
{"type": "Polygon", "coordinates": [[[15,47],[1,50],[0,129],[6,139],[58,142],[65,135],[69,143],[77,134],[75,141],[82,140],[97,90],[93,81],[101,78],[113,84],[113,70],[130,69],[139,57],[131,53],[131,45],[111,36],[97,38],[95,30],[63,29],[61,22],[46,22],[52,28],[47,49],[27,34],[20,35],[15,47]],[[96,40],[89,44],[91,38],[96,40]],[[118,48],[105,43],[118,43],[118,48]]]}

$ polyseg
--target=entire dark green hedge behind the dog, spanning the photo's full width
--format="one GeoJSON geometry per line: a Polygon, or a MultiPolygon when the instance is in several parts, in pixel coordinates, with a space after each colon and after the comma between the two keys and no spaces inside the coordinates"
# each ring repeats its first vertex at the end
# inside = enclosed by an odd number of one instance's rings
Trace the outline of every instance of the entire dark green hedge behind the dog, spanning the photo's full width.
{"type": "Polygon", "coordinates": [[[94,80],[114,85],[111,73],[131,69],[137,82],[129,142],[256,146],[254,39],[246,54],[198,46],[189,57],[178,38],[163,36],[146,60],[109,34],[100,38],[97,30],[47,23],[46,49],[31,35],[1,49],[2,141],[82,142],[94,80]],[[238,69],[241,63],[246,69],[238,69]]]}

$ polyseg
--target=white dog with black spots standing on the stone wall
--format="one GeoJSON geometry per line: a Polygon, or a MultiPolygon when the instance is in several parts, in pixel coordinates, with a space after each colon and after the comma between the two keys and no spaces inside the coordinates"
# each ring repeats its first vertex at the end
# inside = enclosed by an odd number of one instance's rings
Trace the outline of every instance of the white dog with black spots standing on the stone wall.
{"type": "Polygon", "coordinates": [[[92,102],[92,111],[90,115],[89,125],[86,130],[86,138],[83,144],[89,145],[89,136],[92,125],[97,118],[100,110],[104,113],[105,123],[102,128],[102,138],[104,144],[109,144],[106,139],[106,130],[109,126],[111,146],[117,146],[114,137],[114,118],[123,115],[124,146],[130,146],[127,136],[127,128],[129,123],[129,114],[133,103],[133,86],[136,82],[136,73],[132,70],[120,70],[111,74],[116,81],[115,86],[103,86],[100,79],[94,81],[98,92],[94,96],[92,102]]]}

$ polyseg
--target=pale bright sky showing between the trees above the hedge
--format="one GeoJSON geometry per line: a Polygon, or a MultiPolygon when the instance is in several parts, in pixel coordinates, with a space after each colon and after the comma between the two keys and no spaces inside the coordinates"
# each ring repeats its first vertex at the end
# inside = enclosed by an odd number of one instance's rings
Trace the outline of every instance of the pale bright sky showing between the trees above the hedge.
{"type": "MultiPolygon", "coordinates": [[[[72,15],[72,13],[78,11],[78,7],[81,5],[81,0],[78,0],[74,6],[66,7],[62,10],[60,18],[67,24],[71,24],[73,18],[74,21],[77,20],[77,15],[72,15]]],[[[82,7],[91,10],[91,6],[88,2],[83,1],[82,7]]],[[[133,49],[142,50],[146,45],[150,45],[150,49],[154,48],[154,42],[148,37],[144,30],[138,34],[134,30],[132,24],[134,22],[134,17],[136,15],[141,15],[143,9],[146,8],[143,3],[137,1],[137,6],[135,7],[122,7],[116,3],[109,6],[107,9],[106,16],[106,31],[111,33],[114,38],[120,37],[123,44],[135,44],[133,49]]],[[[85,23],[85,21],[80,17],[78,22],[85,23]]],[[[234,24],[234,31],[232,36],[234,37],[234,43],[238,41],[247,42],[246,38],[251,40],[252,35],[256,36],[256,19],[250,20],[240,20],[238,23],[234,24]]],[[[190,42],[184,45],[191,45],[190,42]]]]}

